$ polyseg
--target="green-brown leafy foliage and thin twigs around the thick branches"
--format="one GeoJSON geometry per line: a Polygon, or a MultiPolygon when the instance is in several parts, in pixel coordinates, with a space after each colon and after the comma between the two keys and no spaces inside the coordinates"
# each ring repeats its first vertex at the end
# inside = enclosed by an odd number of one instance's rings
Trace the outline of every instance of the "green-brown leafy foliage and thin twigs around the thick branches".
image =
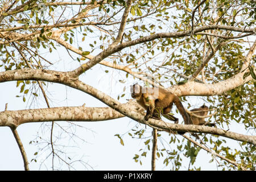
{"type": "MultiPolygon", "coordinates": [[[[86,63],[88,61],[86,56],[97,55],[113,43],[118,34],[123,10],[127,7],[126,1],[123,0],[72,1],[77,5],[60,2],[64,1],[17,0],[11,3],[2,1],[0,5],[1,71],[22,68],[55,69],[55,61],[46,59],[43,53],[51,57],[51,54],[58,51],[59,46],[67,49],[65,56],[70,55],[75,65],[86,63]],[[61,38],[64,43],[58,38],[61,38]],[[71,53],[72,51],[75,53],[71,53]]],[[[134,1],[127,18],[122,42],[162,32],[184,32],[210,25],[255,29],[255,1],[207,0],[196,9],[200,2],[199,0],[134,1]]],[[[191,32],[186,36],[159,38],[135,44],[104,60],[126,66],[134,73],[147,73],[168,88],[175,84],[185,84],[203,64],[205,57],[210,54],[211,47],[223,44],[214,52],[213,58],[205,66],[204,75],[201,73],[197,77],[197,80],[205,80],[208,84],[213,84],[240,72],[246,53],[250,49],[248,41],[251,43],[255,39],[255,36],[251,35],[221,28],[196,34],[191,32]],[[230,39],[232,41],[229,42],[230,39]]],[[[246,72],[243,78],[251,75],[255,79],[255,55],[249,67],[250,71],[246,72]]],[[[109,79],[113,77],[112,72],[106,68],[101,74],[102,77],[109,77],[109,79]]],[[[124,86],[118,88],[118,96],[113,97],[125,101],[129,97],[125,85],[137,78],[128,72],[122,72],[117,76],[115,78],[117,82],[124,86]]],[[[43,86],[47,86],[45,82],[42,83],[43,86]]],[[[38,84],[37,81],[16,81],[16,87],[20,90],[20,95],[16,97],[20,97],[26,103],[33,102],[37,97],[43,97],[42,94],[40,95],[38,84]],[[28,96],[30,96],[29,100],[26,99],[28,96]]],[[[143,84],[146,83],[143,82],[143,84]]],[[[255,80],[252,80],[218,96],[199,96],[198,100],[203,100],[210,109],[217,109],[218,114],[210,117],[208,121],[227,130],[236,122],[250,134],[255,135],[255,84],[255,80]]],[[[187,103],[189,97],[183,100],[187,103]]],[[[199,106],[193,103],[187,103],[187,105],[188,109],[199,106]]],[[[133,158],[141,165],[151,150],[152,138],[151,135],[145,136],[146,130],[151,129],[137,126],[128,133],[130,137],[144,142],[144,148],[133,158]]],[[[122,136],[115,135],[124,145],[122,136]]],[[[159,138],[162,138],[161,134],[159,138]]],[[[168,169],[178,170],[181,166],[186,166],[183,164],[184,158],[190,161],[189,167],[192,166],[192,168],[189,169],[201,169],[200,166],[194,165],[200,157],[200,147],[175,135],[163,138],[168,140],[168,144],[159,144],[156,156],[163,159],[163,164],[168,169]],[[172,148],[167,149],[168,145],[172,148]]],[[[194,138],[217,154],[236,161],[242,167],[255,170],[256,156],[253,144],[240,143],[240,147],[235,148],[229,146],[225,138],[216,135],[199,134],[194,138]]],[[[213,162],[216,159],[208,160],[213,162]]],[[[223,160],[218,162],[218,166],[225,170],[237,169],[223,160]]]]}

